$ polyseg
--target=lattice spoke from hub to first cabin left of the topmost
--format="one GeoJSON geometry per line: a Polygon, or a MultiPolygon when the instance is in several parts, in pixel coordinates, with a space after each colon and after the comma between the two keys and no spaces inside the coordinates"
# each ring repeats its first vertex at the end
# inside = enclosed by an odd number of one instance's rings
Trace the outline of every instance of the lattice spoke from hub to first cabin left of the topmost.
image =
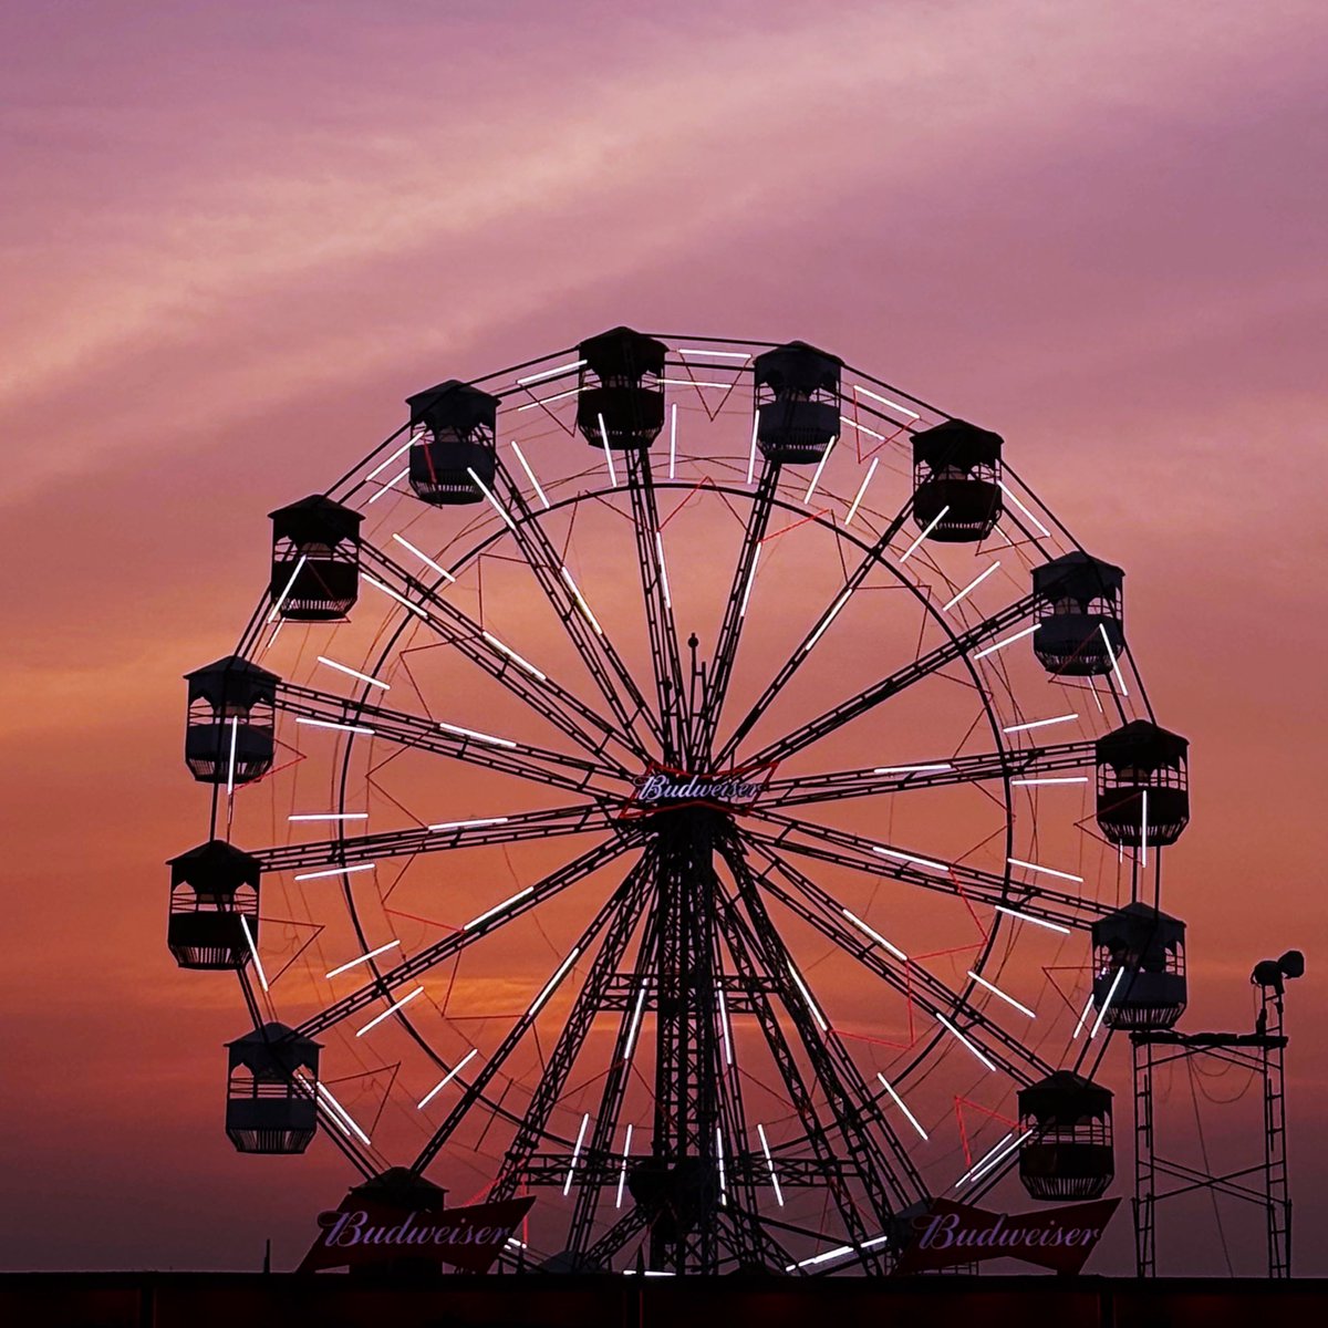
{"type": "Polygon", "coordinates": [[[505,517],[522,558],[558,615],[567,639],[582,657],[582,663],[595,680],[600,695],[608,703],[624,732],[631,734],[637,756],[644,756],[651,740],[661,741],[659,720],[641,695],[636,679],[632,677],[614,647],[604,625],[595,616],[594,610],[572,579],[572,574],[559,556],[547,531],[526,502],[521,486],[502,462],[498,463],[498,481],[501,482],[501,494],[495,502],[509,505],[517,514],[517,519],[511,519],[506,514],[505,517]]]}

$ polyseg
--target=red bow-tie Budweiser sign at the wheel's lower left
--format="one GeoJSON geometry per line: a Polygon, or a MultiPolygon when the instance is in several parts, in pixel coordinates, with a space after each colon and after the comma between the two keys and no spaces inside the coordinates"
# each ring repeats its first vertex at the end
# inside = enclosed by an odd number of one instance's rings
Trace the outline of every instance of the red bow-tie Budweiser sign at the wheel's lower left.
{"type": "Polygon", "coordinates": [[[470,1208],[406,1212],[351,1194],[335,1212],[319,1214],[321,1234],[296,1271],[422,1259],[483,1272],[534,1202],[503,1199],[470,1208]]]}

